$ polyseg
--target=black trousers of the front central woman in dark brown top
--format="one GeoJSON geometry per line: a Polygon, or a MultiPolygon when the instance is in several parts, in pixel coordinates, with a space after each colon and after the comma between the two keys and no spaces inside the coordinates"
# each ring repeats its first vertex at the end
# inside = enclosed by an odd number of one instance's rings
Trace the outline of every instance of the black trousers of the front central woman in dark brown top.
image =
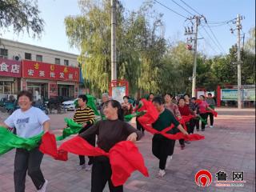
{"type": "Polygon", "coordinates": [[[122,192],[122,186],[114,186],[111,181],[111,166],[109,158],[99,156],[94,158],[94,164],[91,173],[91,192],[102,192],[109,184],[110,192],[122,192]]]}

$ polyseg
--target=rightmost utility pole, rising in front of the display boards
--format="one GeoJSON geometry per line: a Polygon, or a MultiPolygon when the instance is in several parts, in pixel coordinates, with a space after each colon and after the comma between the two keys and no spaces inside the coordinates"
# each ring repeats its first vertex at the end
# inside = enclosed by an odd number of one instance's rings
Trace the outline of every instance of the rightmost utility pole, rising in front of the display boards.
{"type": "Polygon", "coordinates": [[[242,109],[242,90],[241,90],[241,48],[240,48],[240,30],[241,26],[241,17],[238,14],[237,18],[237,30],[238,30],[238,109],[242,109]]]}

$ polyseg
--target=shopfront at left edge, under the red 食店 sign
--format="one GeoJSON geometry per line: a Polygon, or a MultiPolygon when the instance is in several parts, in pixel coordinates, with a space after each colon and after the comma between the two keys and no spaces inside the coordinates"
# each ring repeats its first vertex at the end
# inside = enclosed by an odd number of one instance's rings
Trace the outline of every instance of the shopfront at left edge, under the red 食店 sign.
{"type": "Polygon", "coordinates": [[[21,66],[21,62],[0,58],[0,98],[18,94],[22,77],[21,66]]]}

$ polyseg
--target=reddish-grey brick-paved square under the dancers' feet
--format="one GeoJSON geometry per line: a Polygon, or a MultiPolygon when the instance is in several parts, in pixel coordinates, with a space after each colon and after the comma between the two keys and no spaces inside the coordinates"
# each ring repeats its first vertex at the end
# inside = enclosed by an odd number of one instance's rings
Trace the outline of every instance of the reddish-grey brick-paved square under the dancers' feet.
{"type": "MultiPolygon", "coordinates": [[[[169,192],[169,191],[255,191],[255,110],[218,108],[214,128],[199,132],[206,136],[205,140],[191,142],[185,150],[180,150],[176,142],[174,156],[167,166],[166,176],[157,178],[158,160],[151,153],[152,135],[146,133],[137,142],[150,172],[150,178],[135,172],[126,182],[127,192],[169,192]],[[194,182],[198,170],[209,170],[216,181],[215,174],[225,171],[232,180],[232,171],[244,171],[243,187],[217,187],[214,182],[209,187],[199,187],[194,182]]],[[[0,112],[1,113],[1,112],[0,112]]],[[[73,113],[51,114],[50,122],[54,134],[60,134],[65,123],[64,117],[72,117],[73,113]]],[[[0,114],[0,121],[6,114],[0,114]]],[[[134,124],[134,122],[132,122],[134,124]]],[[[0,138],[1,139],[1,138],[0,138]]],[[[61,142],[59,142],[61,143],[61,142]]],[[[75,169],[78,157],[70,154],[67,162],[55,161],[47,155],[42,160],[42,171],[49,180],[48,192],[82,192],[90,191],[90,171],[75,169]]],[[[0,191],[14,191],[14,150],[0,157],[0,191]]],[[[36,191],[31,179],[26,178],[26,191],[36,191]]],[[[108,191],[108,187],[104,191],[108,191]]]]}

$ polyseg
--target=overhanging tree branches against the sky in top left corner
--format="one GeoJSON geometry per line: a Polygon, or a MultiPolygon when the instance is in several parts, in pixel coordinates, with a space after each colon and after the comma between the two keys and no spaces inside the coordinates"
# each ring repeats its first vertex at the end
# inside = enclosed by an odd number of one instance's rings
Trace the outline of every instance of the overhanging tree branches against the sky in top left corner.
{"type": "Polygon", "coordinates": [[[44,22],[33,0],[0,0],[0,27],[13,27],[14,33],[26,32],[40,36],[44,22]]]}

